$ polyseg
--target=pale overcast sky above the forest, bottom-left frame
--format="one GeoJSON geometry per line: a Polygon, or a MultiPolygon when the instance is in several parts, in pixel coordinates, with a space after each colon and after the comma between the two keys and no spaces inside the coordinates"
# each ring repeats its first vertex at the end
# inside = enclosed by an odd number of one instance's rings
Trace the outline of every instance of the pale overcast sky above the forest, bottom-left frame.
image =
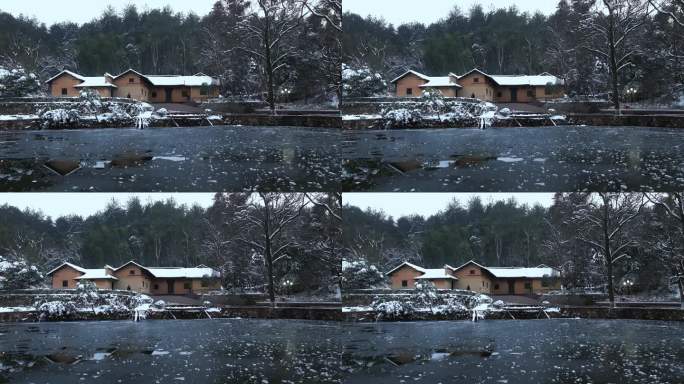
{"type": "Polygon", "coordinates": [[[103,210],[112,199],[123,204],[133,196],[138,196],[142,203],[173,198],[178,204],[202,207],[209,207],[214,198],[213,193],[0,193],[0,205],[40,210],[56,219],[92,215],[103,210]]]}

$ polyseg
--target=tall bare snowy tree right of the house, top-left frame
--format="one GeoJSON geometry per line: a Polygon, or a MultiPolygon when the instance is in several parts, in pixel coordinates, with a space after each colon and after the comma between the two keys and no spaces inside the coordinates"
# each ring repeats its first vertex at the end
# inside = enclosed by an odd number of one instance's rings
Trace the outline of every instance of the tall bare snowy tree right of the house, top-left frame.
{"type": "Polygon", "coordinates": [[[237,28],[243,40],[238,49],[259,62],[266,80],[266,101],[275,113],[278,74],[298,54],[294,34],[306,16],[298,0],[257,0],[256,11],[241,20],[237,28]]]}

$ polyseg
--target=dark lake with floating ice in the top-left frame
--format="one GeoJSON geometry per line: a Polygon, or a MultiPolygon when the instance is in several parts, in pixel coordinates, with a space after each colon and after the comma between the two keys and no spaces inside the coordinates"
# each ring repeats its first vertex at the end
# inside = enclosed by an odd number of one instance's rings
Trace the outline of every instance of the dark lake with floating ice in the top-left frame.
{"type": "Polygon", "coordinates": [[[337,129],[0,132],[0,191],[339,190],[337,129]]]}

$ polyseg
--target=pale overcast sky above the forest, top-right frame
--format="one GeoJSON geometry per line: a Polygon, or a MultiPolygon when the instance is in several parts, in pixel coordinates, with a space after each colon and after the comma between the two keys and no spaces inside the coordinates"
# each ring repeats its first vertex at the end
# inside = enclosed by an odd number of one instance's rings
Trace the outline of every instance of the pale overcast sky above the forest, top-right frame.
{"type": "Polygon", "coordinates": [[[430,24],[449,15],[458,5],[465,14],[474,4],[482,4],[485,11],[508,8],[515,5],[520,11],[540,11],[551,14],[556,10],[557,0],[344,0],[345,12],[361,16],[372,15],[396,25],[409,22],[430,24]]]}

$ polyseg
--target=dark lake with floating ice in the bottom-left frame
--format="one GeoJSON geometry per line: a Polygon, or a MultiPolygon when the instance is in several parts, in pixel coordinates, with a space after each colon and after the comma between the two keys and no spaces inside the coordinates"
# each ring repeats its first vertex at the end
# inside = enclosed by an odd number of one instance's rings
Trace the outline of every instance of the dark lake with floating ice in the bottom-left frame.
{"type": "Polygon", "coordinates": [[[339,324],[0,323],[0,383],[339,383],[339,324]]]}

